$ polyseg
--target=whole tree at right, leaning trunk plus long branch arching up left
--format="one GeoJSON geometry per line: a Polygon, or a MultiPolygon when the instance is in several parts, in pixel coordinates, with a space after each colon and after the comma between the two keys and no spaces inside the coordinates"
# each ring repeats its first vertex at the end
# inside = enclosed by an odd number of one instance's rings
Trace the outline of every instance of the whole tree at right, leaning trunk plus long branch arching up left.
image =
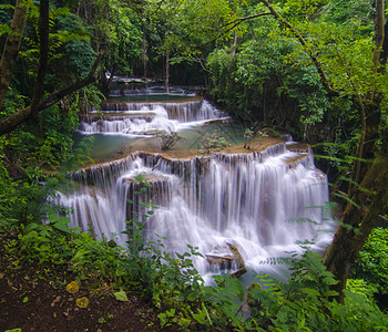
{"type": "MultiPolygon", "coordinates": [[[[334,240],[324,258],[326,267],[339,280],[336,290],[338,299],[344,300],[343,289],[349,276],[359,250],[363,248],[368,235],[379,215],[387,212],[388,198],[388,163],[387,163],[387,131],[382,134],[381,148],[376,154],[376,143],[379,136],[381,118],[381,102],[386,97],[381,89],[381,80],[386,80],[385,66],[387,59],[385,52],[385,1],[375,1],[374,19],[374,50],[369,58],[369,68],[364,73],[366,82],[364,90],[359,89],[359,77],[351,71],[345,72],[346,84],[336,84],[335,79],[327,75],[327,66],[323,65],[314,43],[307,42],[302,33],[295,29],[267,0],[261,2],[269,10],[272,15],[284,24],[297,38],[304,50],[308,53],[320,75],[321,84],[328,94],[348,96],[358,104],[361,121],[360,136],[357,152],[354,156],[351,185],[349,186],[349,203],[340,218],[340,225],[334,240]],[[347,86],[345,89],[345,85],[347,86]],[[334,87],[335,86],[335,87],[334,87]]],[[[336,50],[338,52],[338,50],[336,50]]],[[[368,59],[366,59],[368,61],[368,59]]],[[[345,63],[344,63],[345,65],[345,63]]],[[[338,82],[337,82],[338,83],[338,82]]]]}

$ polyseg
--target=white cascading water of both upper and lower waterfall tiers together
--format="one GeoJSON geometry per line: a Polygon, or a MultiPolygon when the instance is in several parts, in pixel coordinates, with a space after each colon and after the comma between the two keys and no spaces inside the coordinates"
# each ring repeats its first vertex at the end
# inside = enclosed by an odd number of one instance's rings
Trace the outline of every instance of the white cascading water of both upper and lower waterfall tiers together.
{"type": "Polygon", "coordinates": [[[196,153],[180,158],[152,148],[155,138],[144,137],[156,132],[184,135],[207,121],[226,118],[206,101],[182,97],[174,103],[109,101],[100,114],[84,117],[82,135],[120,135],[130,145],[140,139],[147,152],[132,149],[120,159],[72,174],[76,189],[55,198],[57,204],[73,208],[71,226],[125,245],[124,221],[137,218],[147,238],[166,238],[167,251],[187,251],[187,243],[198,247],[204,258],[195,258],[195,264],[203,276],[238,268],[217,261],[231,256],[231,246],[257,272],[268,258],[298,250],[297,240],[315,239],[317,248],[325,248],[331,237],[324,209],[328,186],[308,148],[292,148],[293,143],[278,139],[262,152],[196,153]],[[152,185],[142,195],[134,194],[137,175],[152,185]],[[150,200],[157,209],[144,218],[141,201],[150,200]]]}

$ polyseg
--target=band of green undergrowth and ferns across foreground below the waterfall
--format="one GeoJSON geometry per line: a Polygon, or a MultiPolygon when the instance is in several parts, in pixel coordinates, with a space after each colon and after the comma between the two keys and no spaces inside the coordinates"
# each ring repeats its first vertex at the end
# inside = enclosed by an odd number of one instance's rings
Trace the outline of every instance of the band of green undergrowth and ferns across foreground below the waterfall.
{"type": "MultiPolygon", "coordinates": [[[[331,286],[337,280],[326,271],[319,255],[307,248],[300,257],[292,253],[287,259],[292,272],[287,282],[261,274],[258,282],[245,289],[237,278],[222,274],[214,276],[215,286],[210,287],[193,264],[193,256],[201,256],[197,248],[188,246],[187,252],[167,253],[163,239],[154,242],[144,238],[143,224],[136,220],[127,221],[129,240],[123,248],[103,236],[98,240],[92,234],[69,227],[70,220],[59,217],[54,209],[48,211],[45,224],[34,219],[1,221],[0,237],[7,239],[2,242],[13,267],[55,267],[76,276],[79,283],[93,280],[94,284],[109,284],[111,295],[121,301],[127,299],[126,293],[136,292],[153,303],[161,326],[196,331],[388,331],[387,315],[372,297],[359,291],[359,283],[358,288],[353,286],[355,292],[346,290],[345,304],[331,300],[336,294],[331,286]]],[[[361,288],[367,290],[368,286],[361,288]]]]}

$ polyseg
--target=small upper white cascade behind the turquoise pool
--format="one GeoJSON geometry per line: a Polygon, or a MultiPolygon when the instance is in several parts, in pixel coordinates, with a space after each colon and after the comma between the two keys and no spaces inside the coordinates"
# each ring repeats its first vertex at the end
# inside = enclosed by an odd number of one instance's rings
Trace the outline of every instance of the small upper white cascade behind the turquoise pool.
{"type": "Polygon", "coordinates": [[[206,122],[223,116],[222,112],[203,100],[182,103],[105,102],[100,116],[81,118],[80,132],[84,134],[120,133],[155,135],[176,132],[180,124],[206,122]]]}

